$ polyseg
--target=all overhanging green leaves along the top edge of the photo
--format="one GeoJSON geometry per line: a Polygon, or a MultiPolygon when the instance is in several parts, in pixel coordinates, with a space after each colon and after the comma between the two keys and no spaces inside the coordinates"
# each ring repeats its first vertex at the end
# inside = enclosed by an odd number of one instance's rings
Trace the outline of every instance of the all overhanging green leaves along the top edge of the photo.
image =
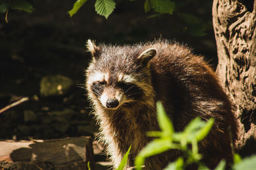
{"type": "MultiPolygon", "coordinates": [[[[131,0],[135,1],[135,0],[131,0]]],[[[70,17],[73,17],[74,14],[87,2],[87,0],[77,0],[73,8],[69,10],[67,13],[70,17]]],[[[1,0],[0,1],[0,13],[5,13],[5,20],[8,22],[8,11],[9,10],[19,10],[19,11],[26,11],[31,13],[34,8],[31,5],[33,4],[33,0],[1,0]]],[[[120,1],[116,0],[96,0],[94,4],[94,8],[97,14],[105,17],[106,19],[109,17],[111,13],[116,8],[116,3],[120,3],[120,1]]],[[[209,20],[204,19],[200,13],[198,13],[197,17],[195,13],[191,14],[191,11],[186,11],[190,13],[183,13],[186,9],[186,6],[189,4],[196,4],[197,1],[173,1],[173,0],[145,0],[144,2],[144,11],[148,13],[148,18],[152,17],[159,17],[164,14],[173,15],[174,18],[183,23],[183,31],[190,34],[191,36],[205,36],[206,31],[212,29],[212,24],[209,20]],[[175,11],[175,13],[174,13],[175,11]],[[199,17],[200,16],[200,17],[199,17]]],[[[201,2],[200,2],[201,4],[201,2]]],[[[202,4],[207,5],[207,3],[202,4]]],[[[36,7],[35,7],[36,8],[36,7]]],[[[142,10],[141,6],[141,10],[142,10]]],[[[132,10],[132,9],[131,9],[132,10]]]]}

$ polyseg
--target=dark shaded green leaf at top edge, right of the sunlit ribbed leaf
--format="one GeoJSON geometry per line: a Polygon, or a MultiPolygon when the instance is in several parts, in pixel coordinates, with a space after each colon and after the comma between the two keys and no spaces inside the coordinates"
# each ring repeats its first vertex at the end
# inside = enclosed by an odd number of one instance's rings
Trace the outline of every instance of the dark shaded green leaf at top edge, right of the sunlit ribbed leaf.
{"type": "Polygon", "coordinates": [[[171,0],[150,0],[152,8],[159,13],[173,13],[175,4],[171,0]]]}

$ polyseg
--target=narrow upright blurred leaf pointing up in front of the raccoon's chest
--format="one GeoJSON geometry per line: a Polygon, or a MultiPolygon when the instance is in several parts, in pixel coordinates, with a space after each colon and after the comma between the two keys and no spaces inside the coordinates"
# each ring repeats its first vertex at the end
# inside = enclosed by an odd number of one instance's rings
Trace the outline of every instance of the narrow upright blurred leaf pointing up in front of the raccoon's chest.
{"type": "Polygon", "coordinates": [[[156,110],[157,110],[157,119],[158,119],[159,127],[166,134],[166,136],[172,136],[174,132],[172,122],[167,117],[164,111],[163,104],[160,101],[157,101],[156,103],[156,110]]]}

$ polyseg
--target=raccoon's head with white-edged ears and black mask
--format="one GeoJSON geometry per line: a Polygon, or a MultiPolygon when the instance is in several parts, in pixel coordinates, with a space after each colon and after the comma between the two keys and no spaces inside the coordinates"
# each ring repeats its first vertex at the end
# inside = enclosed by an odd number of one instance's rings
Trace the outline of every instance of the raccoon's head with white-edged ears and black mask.
{"type": "Polygon", "coordinates": [[[98,47],[90,39],[87,48],[93,59],[86,71],[86,88],[93,102],[116,110],[148,97],[152,90],[149,66],[156,49],[132,53],[120,46],[98,47]]]}

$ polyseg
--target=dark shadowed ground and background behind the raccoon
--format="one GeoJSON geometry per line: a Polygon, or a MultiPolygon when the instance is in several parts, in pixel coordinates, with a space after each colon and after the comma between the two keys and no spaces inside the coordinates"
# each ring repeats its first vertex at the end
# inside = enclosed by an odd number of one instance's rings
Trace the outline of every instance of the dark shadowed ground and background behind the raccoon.
{"type": "Polygon", "coordinates": [[[216,67],[212,1],[177,1],[173,15],[150,17],[143,1],[116,1],[108,20],[97,15],[95,1],[70,18],[75,1],[29,1],[35,11],[10,10],[8,24],[0,14],[0,109],[21,97],[29,101],[0,114],[0,139],[53,139],[93,136],[97,132],[86,99],[84,70],[90,53],[87,39],[97,43],[138,43],[155,38],[180,41],[216,67]],[[179,2],[179,3],[178,3],[179,2]],[[198,20],[182,17],[194,15],[198,20]],[[195,36],[201,29],[204,36],[195,36]],[[74,81],[67,94],[43,97],[44,76],[63,75],[74,81]]]}

